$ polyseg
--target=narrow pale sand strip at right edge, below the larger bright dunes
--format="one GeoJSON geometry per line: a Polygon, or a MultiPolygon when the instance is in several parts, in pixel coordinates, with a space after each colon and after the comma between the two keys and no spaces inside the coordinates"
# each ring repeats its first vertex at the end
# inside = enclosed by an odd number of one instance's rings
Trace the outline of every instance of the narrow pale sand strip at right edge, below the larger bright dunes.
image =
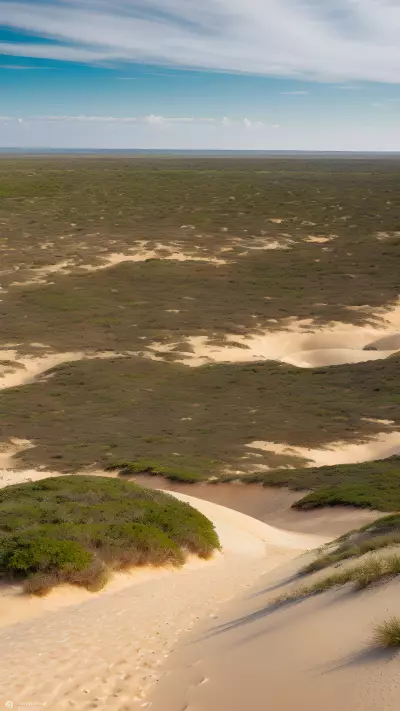
{"type": "Polygon", "coordinates": [[[357,464],[370,462],[374,459],[385,459],[400,453],[400,431],[380,432],[366,442],[349,444],[348,442],[332,442],[325,447],[313,449],[309,447],[293,447],[278,442],[251,442],[247,447],[259,449],[274,454],[304,457],[308,460],[304,466],[324,467],[336,464],[357,464]]]}

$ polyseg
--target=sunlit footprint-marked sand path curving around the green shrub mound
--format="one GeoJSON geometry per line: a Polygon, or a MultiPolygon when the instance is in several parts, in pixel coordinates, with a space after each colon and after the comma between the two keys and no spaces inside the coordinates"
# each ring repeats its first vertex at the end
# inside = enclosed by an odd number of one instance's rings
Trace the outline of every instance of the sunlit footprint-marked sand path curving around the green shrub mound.
{"type": "Polygon", "coordinates": [[[266,570],[321,543],[189,498],[214,520],[223,555],[4,627],[0,705],[9,699],[57,710],[145,708],[146,691],[183,633],[213,618],[266,570]]]}

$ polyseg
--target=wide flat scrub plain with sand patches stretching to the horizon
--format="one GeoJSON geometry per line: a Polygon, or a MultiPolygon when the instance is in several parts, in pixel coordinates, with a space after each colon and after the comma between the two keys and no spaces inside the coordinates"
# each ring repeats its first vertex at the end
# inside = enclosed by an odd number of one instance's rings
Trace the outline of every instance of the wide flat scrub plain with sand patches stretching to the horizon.
{"type": "Polygon", "coordinates": [[[390,157],[3,156],[14,465],[197,480],[395,454],[399,195],[390,157]]]}

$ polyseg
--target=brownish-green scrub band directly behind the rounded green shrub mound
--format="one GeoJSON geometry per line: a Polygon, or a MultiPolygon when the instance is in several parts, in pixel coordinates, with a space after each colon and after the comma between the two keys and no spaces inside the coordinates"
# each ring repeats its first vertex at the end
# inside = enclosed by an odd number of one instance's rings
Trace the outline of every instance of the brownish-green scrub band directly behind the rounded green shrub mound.
{"type": "MultiPolygon", "coordinates": [[[[382,426],[365,418],[377,413],[400,423],[399,363],[300,369],[268,361],[201,368],[139,357],[80,361],[1,392],[0,423],[5,439],[35,443],[21,454],[28,466],[54,469],[56,460],[57,470],[71,472],[144,460],[184,481],[187,472],[206,480],[226,470],[251,473],[255,464],[298,466],[290,453],[251,450],[255,440],[318,447],[376,434],[382,426]]],[[[295,489],[354,482],[378,494],[379,474],[392,499],[376,496],[369,505],[400,510],[398,461],[280,469],[249,481],[295,489]]]]}

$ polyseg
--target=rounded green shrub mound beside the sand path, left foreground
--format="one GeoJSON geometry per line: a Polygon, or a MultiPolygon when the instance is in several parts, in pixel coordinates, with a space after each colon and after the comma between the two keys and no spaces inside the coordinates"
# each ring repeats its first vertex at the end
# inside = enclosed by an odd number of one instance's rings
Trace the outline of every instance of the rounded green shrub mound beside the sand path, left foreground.
{"type": "Polygon", "coordinates": [[[66,476],[0,492],[0,576],[43,594],[101,588],[112,570],[181,565],[219,547],[212,523],[168,494],[106,477],[66,476]]]}

